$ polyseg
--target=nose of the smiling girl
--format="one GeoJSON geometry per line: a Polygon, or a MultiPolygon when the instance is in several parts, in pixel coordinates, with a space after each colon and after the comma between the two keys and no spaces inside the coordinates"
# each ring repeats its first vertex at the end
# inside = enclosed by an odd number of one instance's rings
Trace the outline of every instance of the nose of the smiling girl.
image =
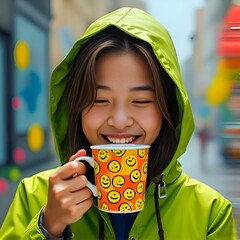
{"type": "Polygon", "coordinates": [[[131,111],[125,106],[113,107],[108,118],[108,124],[117,129],[124,129],[133,125],[133,116],[131,111]]]}

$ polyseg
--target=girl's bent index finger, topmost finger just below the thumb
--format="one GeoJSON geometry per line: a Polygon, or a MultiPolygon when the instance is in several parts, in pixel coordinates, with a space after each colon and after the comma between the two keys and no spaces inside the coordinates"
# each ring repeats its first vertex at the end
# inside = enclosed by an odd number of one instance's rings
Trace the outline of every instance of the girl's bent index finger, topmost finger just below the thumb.
{"type": "Polygon", "coordinates": [[[84,175],[86,174],[87,169],[85,165],[81,162],[73,161],[68,162],[57,169],[52,175],[50,175],[50,180],[54,183],[56,181],[65,180],[72,178],[74,175],[84,175]]]}

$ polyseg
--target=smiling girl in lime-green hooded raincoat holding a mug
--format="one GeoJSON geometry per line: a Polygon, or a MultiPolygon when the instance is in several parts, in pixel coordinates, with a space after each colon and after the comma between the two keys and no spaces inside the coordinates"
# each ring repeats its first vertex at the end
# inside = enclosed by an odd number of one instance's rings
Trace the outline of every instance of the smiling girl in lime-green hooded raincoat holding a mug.
{"type": "Polygon", "coordinates": [[[167,30],[142,10],[94,22],[55,69],[50,119],[61,167],[23,179],[1,239],[236,239],[231,203],[182,173],[194,124],[167,30]],[[95,144],[148,144],[145,207],[108,214],[74,161],[95,144]]]}

